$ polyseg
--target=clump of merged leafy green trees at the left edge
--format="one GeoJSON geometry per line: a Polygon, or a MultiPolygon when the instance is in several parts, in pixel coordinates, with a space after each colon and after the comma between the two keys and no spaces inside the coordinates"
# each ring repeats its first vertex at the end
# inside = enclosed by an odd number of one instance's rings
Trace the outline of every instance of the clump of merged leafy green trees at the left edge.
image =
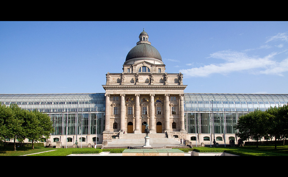
{"type": "Polygon", "coordinates": [[[14,139],[14,150],[16,139],[20,142],[25,138],[32,140],[34,149],[33,142],[49,138],[53,130],[52,121],[45,113],[22,110],[16,104],[0,105],[0,140],[5,142],[5,138],[14,139]]]}

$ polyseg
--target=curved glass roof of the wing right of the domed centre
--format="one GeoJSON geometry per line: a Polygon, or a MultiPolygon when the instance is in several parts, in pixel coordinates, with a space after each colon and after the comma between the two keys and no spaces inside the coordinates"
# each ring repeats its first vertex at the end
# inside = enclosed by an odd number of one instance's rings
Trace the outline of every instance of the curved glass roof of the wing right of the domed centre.
{"type": "Polygon", "coordinates": [[[287,104],[288,94],[185,93],[185,111],[251,112],[287,104]],[[213,103],[212,103],[213,101],[213,103]]]}

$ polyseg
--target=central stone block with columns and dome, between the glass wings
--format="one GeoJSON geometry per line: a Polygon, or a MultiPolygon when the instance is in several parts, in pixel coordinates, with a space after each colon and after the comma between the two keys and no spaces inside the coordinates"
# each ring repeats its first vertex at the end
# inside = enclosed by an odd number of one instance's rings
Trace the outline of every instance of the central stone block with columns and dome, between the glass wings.
{"type": "MultiPolygon", "coordinates": [[[[168,74],[158,50],[143,30],[139,42],[128,52],[122,73],[107,73],[105,130],[103,140],[121,133],[185,136],[183,74],[168,74]]],[[[120,137],[119,137],[120,138],[120,137]]]]}

